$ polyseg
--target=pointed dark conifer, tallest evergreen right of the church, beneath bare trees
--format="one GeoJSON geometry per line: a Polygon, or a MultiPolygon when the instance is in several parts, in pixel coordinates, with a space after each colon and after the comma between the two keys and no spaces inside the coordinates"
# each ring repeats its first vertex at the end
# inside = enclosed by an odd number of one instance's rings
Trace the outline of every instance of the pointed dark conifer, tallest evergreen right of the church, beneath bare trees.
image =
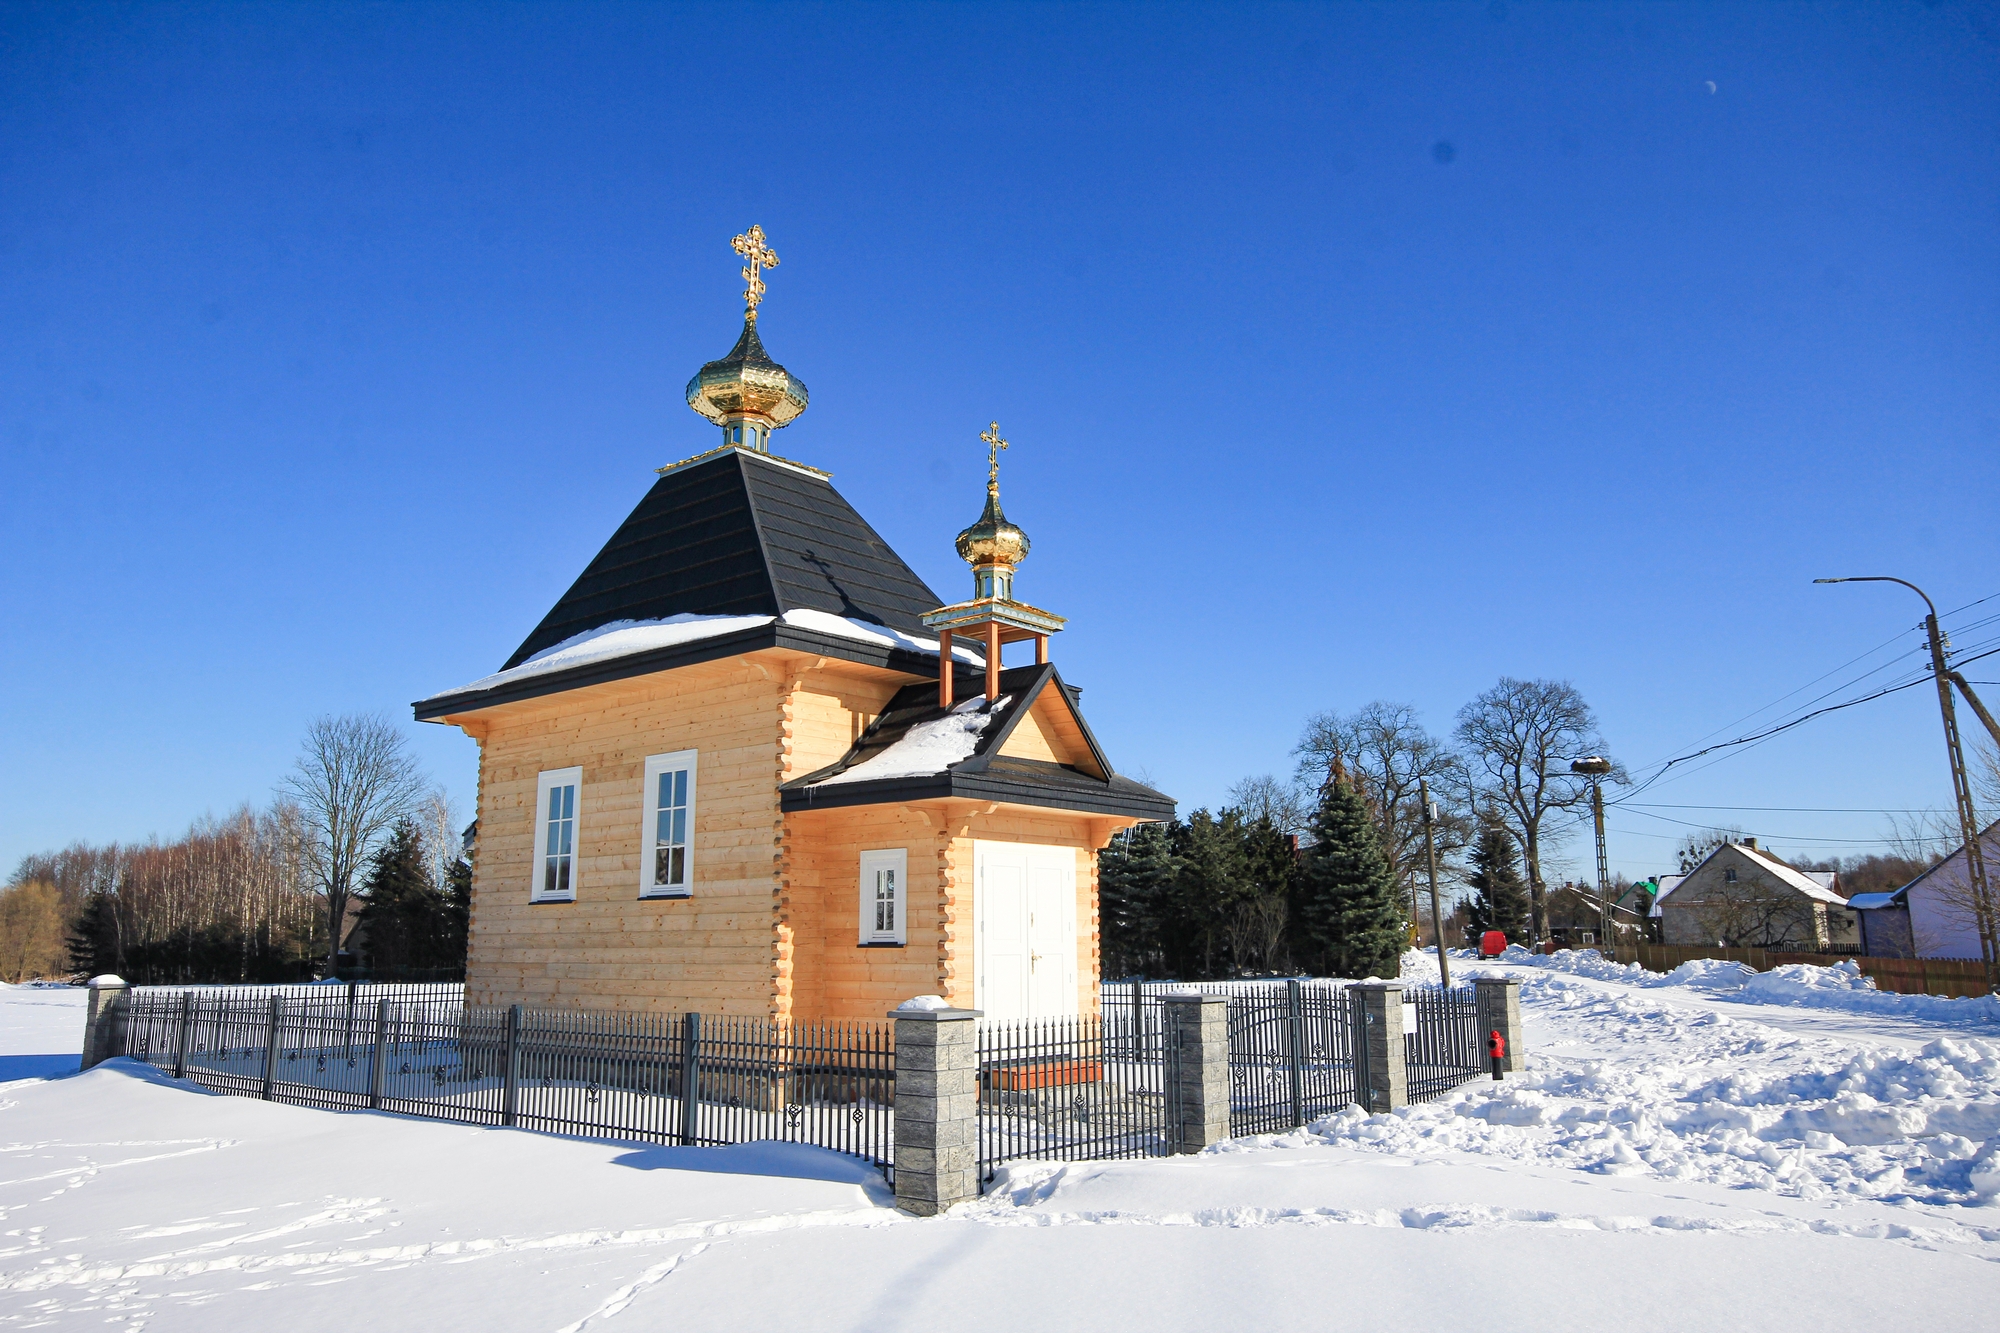
{"type": "Polygon", "coordinates": [[[1302,961],[1332,977],[1396,977],[1410,939],[1402,909],[1380,825],[1336,765],[1320,789],[1312,849],[1298,873],[1294,939],[1302,961]]]}

